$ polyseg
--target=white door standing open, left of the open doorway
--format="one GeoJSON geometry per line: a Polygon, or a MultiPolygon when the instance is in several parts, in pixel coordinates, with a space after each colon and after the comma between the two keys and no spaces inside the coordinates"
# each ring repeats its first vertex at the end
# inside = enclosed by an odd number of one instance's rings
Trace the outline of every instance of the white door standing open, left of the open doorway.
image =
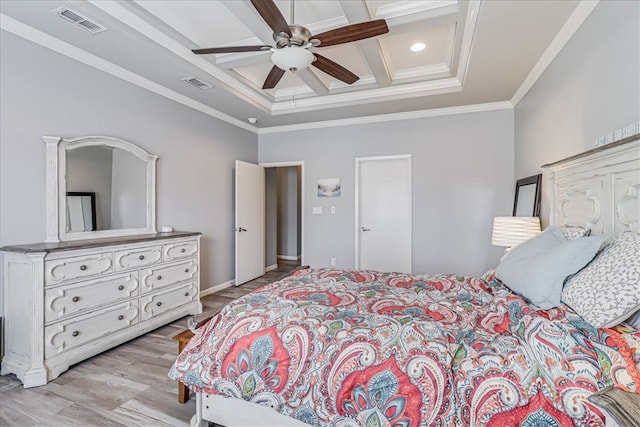
{"type": "Polygon", "coordinates": [[[236,160],[236,286],[264,274],[264,175],[262,166],[236,160]]]}

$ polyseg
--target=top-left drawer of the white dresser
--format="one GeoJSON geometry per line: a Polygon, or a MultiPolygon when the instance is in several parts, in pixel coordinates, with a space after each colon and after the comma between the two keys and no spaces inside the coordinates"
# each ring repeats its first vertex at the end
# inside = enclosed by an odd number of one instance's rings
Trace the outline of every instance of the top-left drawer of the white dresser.
{"type": "Polygon", "coordinates": [[[110,252],[82,255],[45,261],[44,280],[46,285],[52,285],[111,271],[113,271],[113,259],[110,252]]]}

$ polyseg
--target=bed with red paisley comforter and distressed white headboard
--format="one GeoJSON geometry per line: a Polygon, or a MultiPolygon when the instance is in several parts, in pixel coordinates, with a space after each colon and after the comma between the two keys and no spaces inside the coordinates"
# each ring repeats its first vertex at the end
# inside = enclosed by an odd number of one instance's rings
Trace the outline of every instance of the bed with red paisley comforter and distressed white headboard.
{"type": "MultiPolygon", "coordinates": [[[[640,140],[547,165],[545,178],[552,224],[613,236],[560,285],[563,302],[591,298],[584,272],[626,268],[604,260],[637,241],[640,140]]],[[[226,306],[170,376],[196,391],[192,425],[604,425],[589,396],[640,387],[640,333],[618,325],[640,290],[615,292],[603,323],[593,299],[539,309],[498,278],[503,264],[482,277],[299,270],[226,306]]]]}

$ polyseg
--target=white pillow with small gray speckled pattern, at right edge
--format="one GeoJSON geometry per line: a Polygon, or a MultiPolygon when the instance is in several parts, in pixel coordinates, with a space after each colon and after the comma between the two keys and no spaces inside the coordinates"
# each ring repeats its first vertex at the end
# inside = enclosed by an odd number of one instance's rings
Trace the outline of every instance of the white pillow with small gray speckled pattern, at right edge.
{"type": "Polygon", "coordinates": [[[640,234],[617,236],[567,281],[562,301],[596,328],[610,328],[640,310],[640,234]]]}

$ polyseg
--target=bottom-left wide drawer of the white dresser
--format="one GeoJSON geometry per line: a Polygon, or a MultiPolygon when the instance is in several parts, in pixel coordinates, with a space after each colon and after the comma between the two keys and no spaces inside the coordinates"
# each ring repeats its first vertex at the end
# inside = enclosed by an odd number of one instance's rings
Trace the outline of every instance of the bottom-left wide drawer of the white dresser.
{"type": "Polygon", "coordinates": [[[95,313],[46,326],[44,329],[45,358],[56,356],[105,335],[126,329],[138,323],[138,320],[137,301],[128,301],[95,313]]]}

